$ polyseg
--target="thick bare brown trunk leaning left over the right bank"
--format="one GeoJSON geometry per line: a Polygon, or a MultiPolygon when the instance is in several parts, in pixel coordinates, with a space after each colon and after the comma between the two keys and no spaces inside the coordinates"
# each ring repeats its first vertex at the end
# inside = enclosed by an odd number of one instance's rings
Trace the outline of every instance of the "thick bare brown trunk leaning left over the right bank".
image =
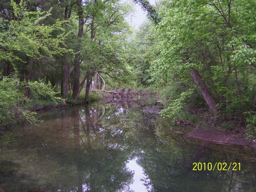
{"type": "Polygon", "coordinates": [[[207,102],[210,111],[214,116],[218,115],[218,111],[216,108],[216,101],[214,101],[212,94],[210,94],[209,89],[207,88],[207,85],[202,80],[200,74],[197,72],[196,69],[191,69],[190,74],[193,77],[193,80],[195,81],[196,85],[199,87],[201,94],[204,97],[204,100],[207,102]]]}

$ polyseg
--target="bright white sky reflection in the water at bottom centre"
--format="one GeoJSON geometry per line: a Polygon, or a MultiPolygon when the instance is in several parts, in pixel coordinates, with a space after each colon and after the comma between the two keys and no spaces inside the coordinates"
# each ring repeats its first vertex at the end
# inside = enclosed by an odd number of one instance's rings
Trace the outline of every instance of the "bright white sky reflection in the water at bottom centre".
{"type": "Polygon", "coordinates": [[[135,192],[144,192],[147,191],[146,186],[143,185],[141,179],[145,179],[146,176],[143,174],[143,169],[136,162],[136,159],[129,161],[126,164],[127,168],[134,172],[133,183],[130,185],[130,189],[135,192]]]}

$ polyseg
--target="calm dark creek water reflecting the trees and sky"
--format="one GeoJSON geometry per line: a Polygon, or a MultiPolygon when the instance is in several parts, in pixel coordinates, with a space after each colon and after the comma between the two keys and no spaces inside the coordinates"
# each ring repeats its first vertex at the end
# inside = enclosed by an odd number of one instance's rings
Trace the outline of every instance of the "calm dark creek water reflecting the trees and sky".
{"type": "Polygon", "coordinates": [[[254,149],[205,144],[146,111],[138,103],[52,110],[38,114],[38,126],[0,133],[0,191],[255,191],[254,149]],[[193,162],[241,170],[193,171],[193,162]]]}

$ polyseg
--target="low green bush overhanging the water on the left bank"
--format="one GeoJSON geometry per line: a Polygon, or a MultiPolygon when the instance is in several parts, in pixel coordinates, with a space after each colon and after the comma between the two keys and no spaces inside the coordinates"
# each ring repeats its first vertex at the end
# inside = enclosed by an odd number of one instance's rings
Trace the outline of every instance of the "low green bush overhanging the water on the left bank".
{"type": "Polygon", "coordinates": [[[51,85],[42,80],[20,83],[16,77],[3,77],[0,81],[0,125],[8,125],[23,120],[31,124],[38,122],[31,108],[40,106],[56,106],[64,103],[64,99],[56,97],[57,93],[51,85]],[[24,96],[24,87],[30,88],[30,98],[24,96]]]}

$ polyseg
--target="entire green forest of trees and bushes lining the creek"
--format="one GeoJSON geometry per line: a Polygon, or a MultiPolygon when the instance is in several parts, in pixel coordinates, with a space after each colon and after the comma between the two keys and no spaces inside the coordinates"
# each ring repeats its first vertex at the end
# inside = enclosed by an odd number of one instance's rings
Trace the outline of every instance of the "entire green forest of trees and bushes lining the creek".
{"type": "Polygon", "coordinates": [[[174,121],[205,116],[254,137],[255,40],[254,0],[3,0],[0,126],[119,87],[154,89],[174,121]],[[149,18],[138,30],[133,3],[149,18]]]}

